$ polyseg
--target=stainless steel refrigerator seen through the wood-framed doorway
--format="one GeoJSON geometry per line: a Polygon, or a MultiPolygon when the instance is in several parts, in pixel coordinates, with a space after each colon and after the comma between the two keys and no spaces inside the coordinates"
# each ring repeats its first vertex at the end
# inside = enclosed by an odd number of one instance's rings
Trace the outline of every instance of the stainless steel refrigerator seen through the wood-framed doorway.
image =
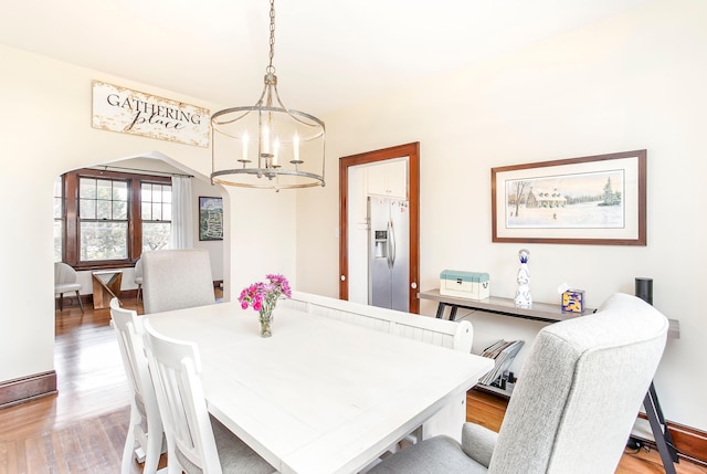
{"type": "Polygon", "coordinates": [[[368,197],[368,304],[408,312],[410,231],[408,201],[368,197]]]}

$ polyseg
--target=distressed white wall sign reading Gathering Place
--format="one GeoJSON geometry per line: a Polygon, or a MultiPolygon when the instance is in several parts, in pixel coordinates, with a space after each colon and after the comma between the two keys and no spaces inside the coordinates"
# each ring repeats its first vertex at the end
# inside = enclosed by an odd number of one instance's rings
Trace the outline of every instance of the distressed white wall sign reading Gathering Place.
{"type": "Polygon", "coordinates": [[[93,82],[94,128],[209,146],[210,113],[182,102],[93,82]]]}

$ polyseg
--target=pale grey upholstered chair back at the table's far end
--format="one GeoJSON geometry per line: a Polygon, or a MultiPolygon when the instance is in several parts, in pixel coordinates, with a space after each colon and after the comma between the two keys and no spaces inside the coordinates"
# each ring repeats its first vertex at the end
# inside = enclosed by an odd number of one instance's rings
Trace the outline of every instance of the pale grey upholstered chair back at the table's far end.
{"type": "Polygon", "coordinates": [[[215,304],[209,251],[148,251],[140,260],[145,314],[215,304]]]}

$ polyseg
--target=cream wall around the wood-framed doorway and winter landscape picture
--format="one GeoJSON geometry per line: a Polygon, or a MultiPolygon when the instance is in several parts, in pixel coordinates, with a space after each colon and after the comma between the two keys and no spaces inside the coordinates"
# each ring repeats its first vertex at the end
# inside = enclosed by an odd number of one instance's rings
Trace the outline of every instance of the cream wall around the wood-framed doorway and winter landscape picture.
{"type": "MultiPolygon", "coordinates": [[[[324,117],[327,186],[298,197],[298,289],[338,295],[338,157],[421,143],[421,285],[439,272],[488,272],[513,297],[518,249],[530,250],[535,301],[569,282],[599,305],[654,278],[654,305],[680,322],[656,375],[666,417],[706,430],[707,282],[704,114],[707,2],[658,0],[495,61],[324,117]],[[647,246],[500,244],[490,239],[490,168],[647,149],[647,246]],[[316,268],[316,271],[310,271],[316,268]]],[[[341,85],[345,89],[346,85],[341,85]]],[[[435,306],[421,305],[433,315],[435,306]]],[[[542,327],[472,318],[475,348],[542,327]]],[[[529,343],[529,340],[528,340],[529,343]]]]}

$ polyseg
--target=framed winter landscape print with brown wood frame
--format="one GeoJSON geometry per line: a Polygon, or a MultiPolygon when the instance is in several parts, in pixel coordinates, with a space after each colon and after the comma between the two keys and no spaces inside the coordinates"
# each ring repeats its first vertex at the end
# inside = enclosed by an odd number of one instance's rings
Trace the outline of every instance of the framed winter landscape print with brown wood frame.
{"type": "Polygon", "coordinates": [[[494,242],[646,245],[646,150],[492,168],[494,242]]]}

